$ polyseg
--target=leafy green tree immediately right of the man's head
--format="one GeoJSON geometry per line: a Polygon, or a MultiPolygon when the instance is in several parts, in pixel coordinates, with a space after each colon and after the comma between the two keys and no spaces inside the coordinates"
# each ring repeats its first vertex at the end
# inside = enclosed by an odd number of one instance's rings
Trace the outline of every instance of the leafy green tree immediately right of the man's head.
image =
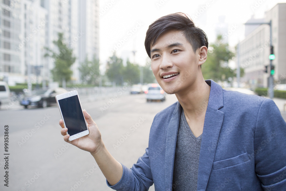
{"type": "Polygon", "coordinates": [[[202,65],[202,73],[205,79],[215,81],[229,81],[236,76],[236,71],[229,68],[228,62],[234,56],[227,43],[222,42],[222,36],[218,36],[216,43],[210,44],[207,60],[202,65]]]}

